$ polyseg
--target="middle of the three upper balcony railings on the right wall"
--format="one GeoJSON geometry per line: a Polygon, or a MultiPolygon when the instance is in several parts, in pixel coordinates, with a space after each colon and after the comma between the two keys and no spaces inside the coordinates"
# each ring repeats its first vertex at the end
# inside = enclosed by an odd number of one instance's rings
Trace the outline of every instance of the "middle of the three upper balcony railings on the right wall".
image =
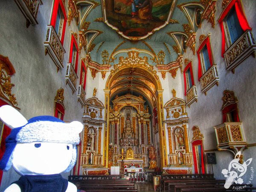
{"type": "Polygon", "coordinates": [[[206,95],[207,90],[209,90],[213,85],[218,85],[219,77],[217,72],[217,67],[212,65],[209,70],[204,73],[204,75],[200,78],[200,83],[202,87],[202,92],[206,95]]]}

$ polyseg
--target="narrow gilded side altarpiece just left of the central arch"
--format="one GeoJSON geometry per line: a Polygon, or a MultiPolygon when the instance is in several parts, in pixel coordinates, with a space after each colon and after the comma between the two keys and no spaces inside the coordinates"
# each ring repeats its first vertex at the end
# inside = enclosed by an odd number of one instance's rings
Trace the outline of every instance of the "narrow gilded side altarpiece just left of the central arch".
{"type": "Polygon", "coordinates": [[[80,160],[84,175],[104,175],[108,172],[107,169],[103,168],[101,148],[105,124],[103,111],[104,105],[96,96],[85,101],[80,160]]]}

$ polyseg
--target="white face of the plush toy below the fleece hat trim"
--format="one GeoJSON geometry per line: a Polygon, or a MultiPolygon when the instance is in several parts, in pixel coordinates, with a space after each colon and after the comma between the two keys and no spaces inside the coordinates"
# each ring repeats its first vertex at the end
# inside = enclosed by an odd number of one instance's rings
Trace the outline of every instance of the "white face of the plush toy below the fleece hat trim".
{"type": "Polygon", "coordinates": [[[67,169],[73,145],[67,143],[17,143],[13,152],[13,168],[20,175],[51,175],[67,169]]]}

